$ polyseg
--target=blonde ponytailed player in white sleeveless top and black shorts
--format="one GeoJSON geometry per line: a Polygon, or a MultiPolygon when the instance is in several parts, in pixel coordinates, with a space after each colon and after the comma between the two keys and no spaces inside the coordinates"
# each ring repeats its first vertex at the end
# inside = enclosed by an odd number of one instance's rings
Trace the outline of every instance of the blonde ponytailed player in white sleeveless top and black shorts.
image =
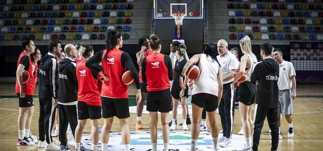
{"type": "Polygon", "coordinates": [[[245,36],[240,40],[240,48],[244,54],[241,57],[240,69],[239,72],[233,78],[231,82],[231,89],[235,90],[235,83],[243,76],[243,73],[246,71],[248,76],[244,82],[239,84],[239,112],[241,117],[242,128],[245,135],[245,146],[242,151],[251,151],[252,150],[252,129],[253,129],[253,120],[251,119],[252,105],[254,104],[256,86],[254,83],[251,83],[250,76],[254,72],[254,67],[256,65],[257,57],[252,52],[251,48],[251,39],[249,36],[245,36]]]}

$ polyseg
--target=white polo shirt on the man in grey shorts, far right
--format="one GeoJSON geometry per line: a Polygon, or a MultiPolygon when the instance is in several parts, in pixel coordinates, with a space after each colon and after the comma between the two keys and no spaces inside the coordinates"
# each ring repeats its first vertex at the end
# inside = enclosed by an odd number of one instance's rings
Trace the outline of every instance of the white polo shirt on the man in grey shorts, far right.
{"type": "Polygon", "coordinates": [[[292,88],[291,76],[296,76],[294,66],[291,62],[283,60],[279,64],[278,89],[289,90],[292,88]]]}

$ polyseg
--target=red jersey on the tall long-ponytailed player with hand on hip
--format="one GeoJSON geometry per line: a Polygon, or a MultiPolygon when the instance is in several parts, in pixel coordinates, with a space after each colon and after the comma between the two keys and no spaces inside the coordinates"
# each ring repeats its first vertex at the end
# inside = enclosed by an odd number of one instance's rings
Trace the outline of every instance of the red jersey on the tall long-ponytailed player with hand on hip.
{"type": "Polygon", "coordinates": [[[102,68],[105,76],[110,81],[104,81],[102,84],[101,96],[112,98],[128,98],[128,87],[123,84],[121,76],[126,72],[125,67],[121,64],[121,54],[123,51],[112,48],[107,54],[107,50],[103,51],[102,68]],[[104,56],[107,54],[107,58],[104,56]]]}

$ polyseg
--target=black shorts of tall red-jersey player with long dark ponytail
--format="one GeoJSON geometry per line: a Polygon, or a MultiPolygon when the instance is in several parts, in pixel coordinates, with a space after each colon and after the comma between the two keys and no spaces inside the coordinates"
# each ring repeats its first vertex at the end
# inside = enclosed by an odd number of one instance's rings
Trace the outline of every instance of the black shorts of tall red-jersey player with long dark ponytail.
{"type": "Polygon", "coordinates": [[[101,96],[102,117],[116,116],[119,119],[130,117],[128,98],[111,98],[101,96]]]}

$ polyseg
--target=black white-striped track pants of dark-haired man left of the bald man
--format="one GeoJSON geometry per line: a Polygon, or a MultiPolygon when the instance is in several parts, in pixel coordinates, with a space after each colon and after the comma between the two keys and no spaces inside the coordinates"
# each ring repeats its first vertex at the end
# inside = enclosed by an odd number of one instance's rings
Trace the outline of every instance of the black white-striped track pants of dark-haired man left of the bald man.
{"type": "Polygon", "coordinates": [[[51,97],[39,98],[39,140],[44,141],[46,139],[47,144],[53,142],[51,131],[55,122],[55,113],[56,109],[53,106],[53,99],[51,97]]]}

